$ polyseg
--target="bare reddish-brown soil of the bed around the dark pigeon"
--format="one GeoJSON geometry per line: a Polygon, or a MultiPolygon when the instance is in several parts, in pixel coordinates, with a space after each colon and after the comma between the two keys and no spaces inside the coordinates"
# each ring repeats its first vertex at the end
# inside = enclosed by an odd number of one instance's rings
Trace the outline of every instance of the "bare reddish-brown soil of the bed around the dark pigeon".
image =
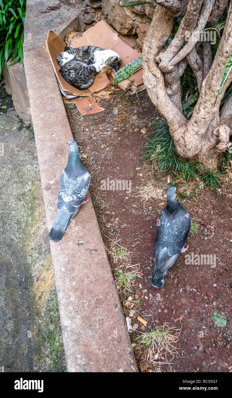
{"type": "MultiPolygon", "coordinates": [[[[110,98],[97,99],[106,110],[96,115],[80,117],[77,109],[68,109],[70,125],[79,150],[84,154],[83,164],[91,174],[90,194],[103,234],[112,240],[120,238],[120,245],[133,252],[132,263],[140,263],[142,278],[138,278],[136,290],[140,305],[134,304],[132,326],[139,324],[131,338],[154,325],[182,324],[179,336],[179,355],[171,361],[171,371],[176,372],[229,372],[232,366],[232,189],[228,182],[216,189],[202,189],[197,201],[183,201],[191,219],[199,224],[195,236],[188,238],[191,254],[216,255],[216,267],[210,265],[186,265],[181,254],[169,269],[162,289],[150,283],[155,255],[156,220],[165,205],[165,200],[144,203],[138,189],[148,180],[155,179],[164,191],[167,176],[155,174],[149,164],[141,160],[141,151],[146,138],[152,136],[152,122],[158,117],[146,92],[126,98],[118,92],[110,98]],[[115,108],[118,115],[114,115],[115,108]],[[137,115],[137,118],[133,116],[137,115]],[[141,129],[146,129],[145,135],[141,129]],[[102,191],[100,181],[125,179],[132,181],[132,191],[102,191]],[[207,232],[206,232],[207,231],[207,232]],[[141,285],[140,285],[141,284],[141,285]],[[142,288],[140,287],[142,286],[142,288]],[[159,297],[160,295],[160,297],[159,297]],[[218,312],[226,316],[226,327],[214,326],[212,315],[218,312]],[[138,322],[141,316],[147,320],[144,327],[138,322]],[[181,322],[181,323],[180,323],[181,322]]],[[[172,178],[171,178],[172,179],[172,178]]],[[[110,240],[102,235],[105,246],[110,240]]],[[[109,258],[115,275],[116,264],[109,258]]],[[[130,293],[121,295],[122,308],[128,315],[130,308],[124,306],[130,293]]],[[[141,371],[169,371],[161,357],[157,367],[142,365],[141,371]]],[[[170,358],[171,359],[171,358],[170,358]]]]}

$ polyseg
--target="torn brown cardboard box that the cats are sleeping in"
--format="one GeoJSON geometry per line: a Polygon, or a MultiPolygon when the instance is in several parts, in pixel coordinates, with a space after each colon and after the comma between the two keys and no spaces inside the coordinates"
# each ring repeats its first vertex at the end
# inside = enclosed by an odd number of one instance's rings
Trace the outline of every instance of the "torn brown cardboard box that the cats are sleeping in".
{"type": "MultiPolygon", "coordinates": [[[[124,41],[122,41],[118,36],[118,33],[103,20],[85,31],[82,37],[77,35],[77,40],[75,41],[73,48],[85,45],[94,45],[106,49],[113,49],[120,55],[122,66],[128,64],[128,62],[133,59],[141,57],[142,55],[139,51],[132,49],[128,44],[124,43],[124,41]]],[[[92,93],[101,91],[110,85],[110,80],[107,78],[106,74],[98,73],[94,78],[92,86],[90,86],[88,90],[78,90],[71,86],[59,73],[60,66],[56,60],[58,55],[64,51],[65,42],[53,31],[48,31],[46,47],[55,75],[64,93],[73,94],[77,97],[91,96],[92,93]]],[[[129,80],[126,80],[125,83],[121,82],[123,84],[118,84],[118,86],[124,88],[128,83],[130,83],[130,81],[134,83],[134,90],[132,90],[132,92],[134,92],[136,87],[139,87],[140,84],[143,84],[142,66],[132,74],[129,80]]]]}

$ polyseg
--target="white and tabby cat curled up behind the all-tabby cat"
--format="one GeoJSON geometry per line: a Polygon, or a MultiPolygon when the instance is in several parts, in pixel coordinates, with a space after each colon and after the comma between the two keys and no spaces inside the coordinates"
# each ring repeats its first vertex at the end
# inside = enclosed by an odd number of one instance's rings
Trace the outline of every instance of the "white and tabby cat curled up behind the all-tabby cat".
{"type": "Polygon", "coordinates": [[[115,51],[105,50],[95,46],[83,46],[76,49],[69,49],[57,57],[60,66],[63,66],[72,59],[77,59],[87,65],[94,64],[97,72],[100,72],[105,65],[110,66],[114,72],[117,72],[122,63],[120,55],[115,51]]]}

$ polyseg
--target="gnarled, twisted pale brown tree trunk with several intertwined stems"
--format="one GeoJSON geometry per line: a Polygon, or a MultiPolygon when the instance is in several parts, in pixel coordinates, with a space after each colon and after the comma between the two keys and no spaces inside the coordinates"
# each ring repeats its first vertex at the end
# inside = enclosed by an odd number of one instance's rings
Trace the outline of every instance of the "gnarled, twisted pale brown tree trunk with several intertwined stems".
{"type": "Polygon", "coordinates": [[[226,88],[232,81],[232,72],[227,77],[221,92],[217,92],[226,63],[232,51],[232,4],[228,10],[226,25],[212,62],[211,46],[203,43],[203,59],[198,54],[199,41],[196,35],[186,39],[187,29],[203,31],[212,18],[218,19],[224,12],[226,2],[215,0],[185,1],[185,15],[174,39],[164,51],[176,16],[183,13],[183,2],[158,0],[153,20],[144,41],[142,62],[144,84],[151,101],[166,119],[178,153],[185,158],[195,158],[210,170],[217,169],[221,153],[229,147],[232,128],[232,100],[219,107],[226,88]],[[175,8],[176,7],[176,8],[175,8]],[[189,64],[197,77],[200,92],[191,119],[187,120],[181,108],[179,79],[189,64]]]}

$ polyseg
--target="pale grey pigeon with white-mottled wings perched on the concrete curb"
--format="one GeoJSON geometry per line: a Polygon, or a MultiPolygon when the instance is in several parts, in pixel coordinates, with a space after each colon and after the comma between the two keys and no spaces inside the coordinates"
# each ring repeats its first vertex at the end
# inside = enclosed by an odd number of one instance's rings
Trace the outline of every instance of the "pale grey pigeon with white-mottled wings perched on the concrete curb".
{"type": "Polygon", "coordinates": [[[90,174],[81,163],[79,150],[75,141],[67,142],[69,145],[69,160],[61,173],[58,193],[57,215],[49,232],[49,238],[54,242],[62,239],[66,226],[77,214],[90,184],[90,174]]]}

